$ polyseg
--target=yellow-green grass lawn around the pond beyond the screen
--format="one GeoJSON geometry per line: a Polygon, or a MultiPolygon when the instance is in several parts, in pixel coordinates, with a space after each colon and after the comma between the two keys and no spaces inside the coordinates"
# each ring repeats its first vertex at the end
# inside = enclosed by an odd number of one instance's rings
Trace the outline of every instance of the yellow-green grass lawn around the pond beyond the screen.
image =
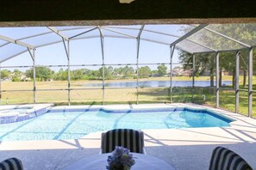
{"type": "MultiPolygon", "coordinates": [[[[140,81],[169,81],[170,77],[151,77],[140,79],[140,81]]],[[[173,77],[173,81],[192,80],[188,76],[173,77]]],[[[223,76],[222,80],[232,80],[232,76],[223,76]]],[[[240,76],[242,80],[242,76],[240,76]]],[[[126,82],[136,81],[136,79],[126,80],[106,80],[105,82],[126,82]]],[[[209,81],[209,76],[196,77],[196,81],[209,81]]],[[[102,83],[101,81],[72,81],[71,82],[71,101],[72,105],[82,104],[103,104],[103,90],[95,87],[86,87],[85,83],[102,83]]],[[[241,87],[240,81],[240,87],[241,87]]],[[[253,76],[253,89],[256,89],[256,77],[253,76]]],[[[67,81],[36,82],[36,102],[55,103],[55,105],[67,105],[68,103],[67,81]],[[48,89],[47,91],[41,91],[48,89]],[[61,89],[61,90],[57,90],[61,89]]],[[[2,82],[2,90],[32,90],[33,82],[2,82]]],[[[247,89],[247,87],[246,87],[247,89]]],[[[139,88],[139,103],[164,103],[170,102],[170,88],[139,88]]],[[[136,88],[105,89],[105,104],[136,103],[136,88]]],[[[25,104],[34,102],[32,91],[11,91],[2,93],[2,104],[25,104]]],[[[173,88],[172,102],[192,102],[203,105],[215,106],[214,88],[195,88],[194,100],[192,99],[192,88],[173,88]],[[205,95],[205,100],[203,100],[205,95]]],[[[253,97],[253,117],[256,118],[256,95],[253,97]]],[[[247,92],[240,92],[240,113],[247,115],[247,92]]],[[[220,107],[234,111],[235,96],[234,91],[220,90],[220,107]]]]}

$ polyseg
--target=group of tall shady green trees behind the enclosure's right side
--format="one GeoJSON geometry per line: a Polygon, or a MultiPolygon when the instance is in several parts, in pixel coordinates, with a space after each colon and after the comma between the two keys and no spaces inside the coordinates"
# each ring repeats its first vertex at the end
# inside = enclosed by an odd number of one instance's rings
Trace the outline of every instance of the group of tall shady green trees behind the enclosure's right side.
{"type": "MultiPolygon", "coordinates": [[[[238,39],[242,42],[246,42],[248,45],[253,44],[256,35],[256,26],[254,24],[215,24],[211,25],[211,29],[228,35],[233,39],[238,39]]],[[[180,31],[187,33],[190,27],[181,27],[180,31]]],[[[222,36],[216,36],[214,33],[204,31],[203,33],[196,33],[192,36],[192,39],[200,42],[204,46],[209,46],[213,49],[239,49],[241,46],[238,43],[234,43],[232,40],[224,39],[222,36]]],[[[255,50],[253,56],[256,55],[255,50]]],[[[223,72],[229,72],[232,75],[232,86],[235,85],[235,52],[221,52],[219,55],[219,77],[220,87],[222,86],[222,74],[223,72]]],[[[179,51],[179,59],[183,63],[191,63],[192,55],[188,52],[179,51]]],[[[191,64],[183,65],[185,70],[192,67],[191,64]]],[[[209,70],[210,85],[214,86],[215,76],[215,54],[214,53],[202,53],[196,55],[196,76],[203,75],[203,73],[209,70]]],[[[253,71],[256,71],[256,59],[253,60],[253,71]]],[[[247,73],[248,73],[248,50],[240,51],[240,74],[243,76],[243,87],[247,85],[247,73]]]]}

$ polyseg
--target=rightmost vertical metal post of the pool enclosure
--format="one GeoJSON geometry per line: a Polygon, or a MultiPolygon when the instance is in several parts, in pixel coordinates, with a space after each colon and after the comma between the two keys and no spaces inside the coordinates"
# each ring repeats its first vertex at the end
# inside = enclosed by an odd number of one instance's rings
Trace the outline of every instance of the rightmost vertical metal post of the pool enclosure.
{"type": "Polygon", "coordinates": [[[248,117],[253,113],[253,48],[249,49],[248,56],[248,117]]]}

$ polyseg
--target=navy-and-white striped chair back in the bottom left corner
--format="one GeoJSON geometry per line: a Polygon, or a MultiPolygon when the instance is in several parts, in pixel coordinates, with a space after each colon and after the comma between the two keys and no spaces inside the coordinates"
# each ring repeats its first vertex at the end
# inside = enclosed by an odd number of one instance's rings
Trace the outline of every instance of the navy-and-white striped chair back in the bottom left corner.
{"type": "Polygon", "coordinates": [[[22,161],[17,158],[9,158],[1,161],[0,170],[23,170],[22,161]]]}

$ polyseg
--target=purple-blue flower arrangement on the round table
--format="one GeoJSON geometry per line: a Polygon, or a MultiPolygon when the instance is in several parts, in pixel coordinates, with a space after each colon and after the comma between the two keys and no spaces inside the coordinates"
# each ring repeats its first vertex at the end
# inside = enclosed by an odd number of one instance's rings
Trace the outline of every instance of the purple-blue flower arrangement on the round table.
{"type": "Polygon", "coordinates": [[[108,157],[109,170],[129,170],[134,164],[133,155],[130,151],[124,147],[116,146],[116,149],[112,152],[112,155],[108,157]]]}

